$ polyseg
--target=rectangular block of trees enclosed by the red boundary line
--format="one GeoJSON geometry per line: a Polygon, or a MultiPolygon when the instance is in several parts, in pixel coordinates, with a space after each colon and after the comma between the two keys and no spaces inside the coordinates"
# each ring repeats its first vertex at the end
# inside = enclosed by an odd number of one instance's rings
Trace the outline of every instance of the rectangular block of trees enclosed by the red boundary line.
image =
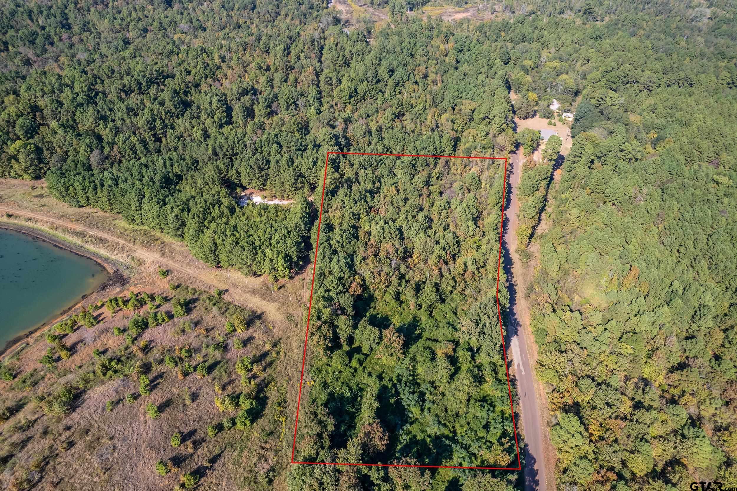
{"type": "MultiPolygon", "coordinates": [[[[332,158],[296,459],[517,467],[495,293],[504,161],[332,158]]],[[[294,474],[317,490],[337,471],[294,474]]]]}

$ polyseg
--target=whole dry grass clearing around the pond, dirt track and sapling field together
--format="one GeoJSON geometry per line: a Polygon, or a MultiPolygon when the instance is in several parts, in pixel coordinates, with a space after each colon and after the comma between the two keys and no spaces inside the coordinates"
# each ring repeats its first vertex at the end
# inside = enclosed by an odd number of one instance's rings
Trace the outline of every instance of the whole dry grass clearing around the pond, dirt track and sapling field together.
{"type": "MultiPolygon", "coordinates": [[[[116,282],[69,314],[111,296],[127,298],[131,291],[166,297],[157,310],[170,317],[174,297],[189,302],[186,316],[144,330],[132,343],[113,330],[125,330],[133,312],[111,316],[105,307],[95,309],[98,324],[63,335],[60,341],[71,356],[63,359],[56,352],[51,366],[40,361],[52,347],[46,334],[54,333],[54,327],[6,352],[4,369],[14,378],[0,380],[1,489],[172,490],[187,473],[198,476],[198,490],[285,489],[310,266],[276,283],[209,268],[172,237],[130,226],[113,214],[55,201],[43,181],[0,179],[0,226],[93,257],[115,274],[116,282]],[[160,268],[169,272],[165,279],[158,275],[160,268]],[[183,284],[189,286],[170,289],[183,284]],[[216,289],[222,299],[214,295],[216,289]],[[248,312],[248,331],[228,334],[226,322],[238,309],[248,312]],[[235,338],[245,345],[242,349],[235,338]],[[187,360],[176,355],[183,347],[192,349],[187,360]],[[95,349],[116,361],[118,372],[96,373],[100,358],[93,355],[95,349]],[[177,358],[179,367],[206,363],[208,375],[180,376],[178,368],[167,366],[167,355],[177,358]],[[243,356],[253,362],[246,385],[234,368],[243,356]],[[150,396],[126,403],[127,394],[139,394],[142,374],[151,381],[150,396]],[[46,414],[44,405],[62,387],[74,393],[69,412],[46,414]],[[237,398],[243,392],[256,402],[249,410],[252,425],[226,430],[223,420],[236,417],[240,409],[221,412],[214,398],[237,398]],[[106,410],[108,401],[111,411],[106,410]],[[149,403],[158,407],[159,417],[147,416],[149,403]],[[209,425],[217,435],[208,436],[209,425]],[[170,445],[175,432],[182,434],[178,448],[170,445]],[[158,461],[172,467],[167,476],[156,472],[158,461]]],[[[144,306],[138,313],[145,317],[147,310],[144,306]]]]}

